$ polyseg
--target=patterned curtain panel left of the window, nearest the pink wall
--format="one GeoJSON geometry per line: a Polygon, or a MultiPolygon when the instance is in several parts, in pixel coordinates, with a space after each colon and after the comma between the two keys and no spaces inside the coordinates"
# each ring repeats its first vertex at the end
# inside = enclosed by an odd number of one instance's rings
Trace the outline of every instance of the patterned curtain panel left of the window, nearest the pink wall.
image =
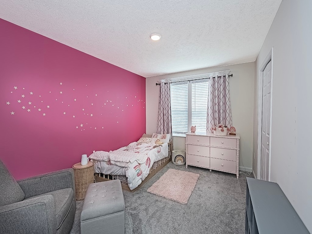
{"type": "Polygon", "coordinates": [[[172,136],[170,83],[162,81],[159,88],[157,133],[172,136]]]}

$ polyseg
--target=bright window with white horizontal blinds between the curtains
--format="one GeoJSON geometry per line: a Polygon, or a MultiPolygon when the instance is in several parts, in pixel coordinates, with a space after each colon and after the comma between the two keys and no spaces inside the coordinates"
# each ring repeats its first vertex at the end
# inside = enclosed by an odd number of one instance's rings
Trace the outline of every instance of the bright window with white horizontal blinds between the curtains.
{"type": "Polygon", "coordinates": [[[209,79],[171,83],[171,119],[174,136],[184,136],[196,125],[206,133],[209,79]]]}

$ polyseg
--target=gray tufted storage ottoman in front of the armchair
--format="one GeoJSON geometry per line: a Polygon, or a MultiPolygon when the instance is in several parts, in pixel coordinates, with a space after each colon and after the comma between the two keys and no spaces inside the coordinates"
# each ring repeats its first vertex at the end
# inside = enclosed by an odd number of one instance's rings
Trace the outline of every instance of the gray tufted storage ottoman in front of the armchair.
{"type": "Polygon", "coordinates": [[[119,179],[89,185],[80,228],[81,234],[125,233],[125,202],[119,179]]]}

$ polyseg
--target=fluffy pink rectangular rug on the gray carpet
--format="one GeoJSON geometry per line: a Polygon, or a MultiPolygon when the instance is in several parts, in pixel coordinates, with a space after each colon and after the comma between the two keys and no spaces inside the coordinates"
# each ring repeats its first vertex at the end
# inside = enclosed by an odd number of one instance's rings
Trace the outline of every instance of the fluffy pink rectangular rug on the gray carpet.
{"type": "Polygon", "coordinates": [[[199,174],[169,169],[147,192],[187,204],[195,188],[199,174]]]}

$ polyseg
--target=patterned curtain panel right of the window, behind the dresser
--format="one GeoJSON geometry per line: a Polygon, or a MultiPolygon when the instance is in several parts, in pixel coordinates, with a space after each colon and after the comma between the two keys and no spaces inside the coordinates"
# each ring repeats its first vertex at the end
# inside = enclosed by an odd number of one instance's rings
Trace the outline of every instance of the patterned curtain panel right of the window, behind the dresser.
{"type": "Polygon", "coordinates": [[[232,126],[229,75],[215,76],[209,79],[207,132],[217,124],[232,126]]]}

